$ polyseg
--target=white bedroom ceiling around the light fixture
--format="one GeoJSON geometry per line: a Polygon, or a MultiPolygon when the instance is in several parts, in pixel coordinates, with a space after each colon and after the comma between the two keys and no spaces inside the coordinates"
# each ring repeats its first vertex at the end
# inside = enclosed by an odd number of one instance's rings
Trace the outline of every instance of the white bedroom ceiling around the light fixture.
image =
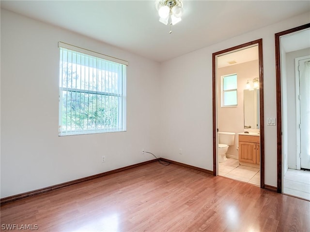
{"type": "Polygon", "coordinates": [[[158,22],[155,0],[1,0],[1,8],[159,62],[310,12],[308,0],[183,2],[182,21],[171,34],[158,22]]]}

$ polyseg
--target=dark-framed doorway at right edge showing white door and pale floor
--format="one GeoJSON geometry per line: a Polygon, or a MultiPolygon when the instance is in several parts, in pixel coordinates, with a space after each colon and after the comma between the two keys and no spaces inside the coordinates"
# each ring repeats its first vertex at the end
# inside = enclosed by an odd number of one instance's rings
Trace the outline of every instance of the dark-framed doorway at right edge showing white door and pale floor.
{"type": "Polygon", "coordinates": [[[310,24],[275,34],[277,191],[310,200],[310,24]]]}

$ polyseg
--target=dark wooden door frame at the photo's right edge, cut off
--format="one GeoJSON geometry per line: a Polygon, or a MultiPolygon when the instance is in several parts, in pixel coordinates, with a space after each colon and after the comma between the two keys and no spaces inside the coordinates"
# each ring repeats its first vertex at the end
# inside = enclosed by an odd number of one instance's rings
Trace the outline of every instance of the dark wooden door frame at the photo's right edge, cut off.
{"type": "Polygon", "coordinates": [[[282,193],[282,97],[281,97],[281,47],[280,37],[310,28],[310,23],[275,34],[276,44],[276,90],[277,90],[277,192],[282,193]]]}

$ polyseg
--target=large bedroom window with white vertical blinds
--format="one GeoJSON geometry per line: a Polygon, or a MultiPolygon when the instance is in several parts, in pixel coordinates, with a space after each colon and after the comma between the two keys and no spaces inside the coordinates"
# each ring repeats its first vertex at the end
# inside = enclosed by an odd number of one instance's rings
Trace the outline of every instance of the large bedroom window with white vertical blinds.
{"type": "Polygon", "coordinates": [[[128,62],[62,42],[59,47],[59,135],[125,131],[128,62]]]}

